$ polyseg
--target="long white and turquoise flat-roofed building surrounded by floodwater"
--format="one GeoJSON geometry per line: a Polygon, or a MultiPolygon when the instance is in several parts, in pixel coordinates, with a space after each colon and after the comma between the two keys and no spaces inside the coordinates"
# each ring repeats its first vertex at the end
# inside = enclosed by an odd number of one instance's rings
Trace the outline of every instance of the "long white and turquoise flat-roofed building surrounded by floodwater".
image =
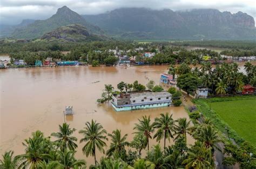
{"type": "Polygon", "coordinates": [[[172,94],[169,92],[129,92],[114,94],[112,106],[116,111],[148,109],[171,105],[172,94]]]}

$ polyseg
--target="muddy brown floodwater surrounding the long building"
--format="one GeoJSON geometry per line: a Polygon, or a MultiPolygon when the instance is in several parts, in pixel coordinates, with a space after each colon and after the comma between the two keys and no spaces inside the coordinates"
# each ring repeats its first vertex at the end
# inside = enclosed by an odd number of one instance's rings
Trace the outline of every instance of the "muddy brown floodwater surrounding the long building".
{"type": "MultiPolygon", "coordinates": [[[[67,105],[73,106],[74,114],[66,117],[66,121],[77,129],[74,135],[78,140],[82,138],[78,130],[91,119],[101,123],[109,133],[115,129],[122,130],[122,134],[129,134],[127,140],[131,141],[134,123],[144,115],[151,116],[153,120],[160,113],[170,112],[174,119],[188,118],[183,106],[116,112],[110,104],[99,106],[96,103],[104,84],[112,84],[116,89],[121,81],[132,83],[138,80],[145,85],[152,79],[158,84],[160,73],[167,72],[167,67],[80,66],[0,70],[0,154],[9,150],[14,150],[15,154],[23,153],[22,141],[36,130],[41,130],[45,136],[57,132],[58,125],[64,122],[63,110],[67,105]]],[[[193,143],[190,136],[187,141],[188,144],[193,143]]],[[[150,146],[155,143],[155,140],[150,140],[150,146]]],[[[89,166],[93,159],[83,155],[83,145],[78,144],[76,156],[85,159],[89,166]]],[[[96,153],[99,159],[102,154],[96,153]]]]}

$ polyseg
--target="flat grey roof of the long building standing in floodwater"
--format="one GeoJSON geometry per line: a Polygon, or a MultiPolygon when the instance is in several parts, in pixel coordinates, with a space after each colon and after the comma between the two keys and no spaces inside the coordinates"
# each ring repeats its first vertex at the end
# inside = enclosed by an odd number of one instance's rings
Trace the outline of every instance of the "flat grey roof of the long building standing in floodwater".
{"type": "Polygon", "coordinates": [[[156,98],[156,97],[171,97],[172,94],[169,92],[163,91],[163,92],[136,92],[136,93],[131,93],[131,99],[136,99],[136,98],[156,98]]]}

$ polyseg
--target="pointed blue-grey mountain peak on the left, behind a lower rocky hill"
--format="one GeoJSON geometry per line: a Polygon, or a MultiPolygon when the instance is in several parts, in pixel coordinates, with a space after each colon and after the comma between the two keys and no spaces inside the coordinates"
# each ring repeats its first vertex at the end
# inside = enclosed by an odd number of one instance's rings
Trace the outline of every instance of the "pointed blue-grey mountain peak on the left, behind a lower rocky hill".
{"type": "Polygon", "coordinates": [[[78,13],[70,10],[68,7],[63,6],[59,8],[55,15],[43,21],[35,21],[29,25],[23,26],[22,28],[17,28],[12,33],[13,38],[39,38],[44,33],[50,32],[59,28],[60,26],[66,26],[70,24],[81,24],[86,26],[86,28],[95,33],[100,33],[102,30],[98,26],[94,26],[85,21],[85,19],[78,13]]]}

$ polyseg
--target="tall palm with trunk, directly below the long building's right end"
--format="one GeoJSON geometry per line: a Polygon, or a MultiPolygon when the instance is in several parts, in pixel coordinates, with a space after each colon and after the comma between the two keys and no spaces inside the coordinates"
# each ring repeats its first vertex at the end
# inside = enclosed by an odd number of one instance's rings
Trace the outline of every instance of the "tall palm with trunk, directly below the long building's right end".
{"type": "Polygon", "coordinates": [[[164,138],[164,149],[165,149],[165,140],[168,139],[170,141],[170,137],[173,138],[173,126],[174,120],[172,119],[172,114],[169,113],[161,113],[160,118],[155,118],[153,123],[154,129],[157,129],[157,133],[154,134],[153,138],[157,138],[157,141],[160,142],[162,138],[164,138]]]}

